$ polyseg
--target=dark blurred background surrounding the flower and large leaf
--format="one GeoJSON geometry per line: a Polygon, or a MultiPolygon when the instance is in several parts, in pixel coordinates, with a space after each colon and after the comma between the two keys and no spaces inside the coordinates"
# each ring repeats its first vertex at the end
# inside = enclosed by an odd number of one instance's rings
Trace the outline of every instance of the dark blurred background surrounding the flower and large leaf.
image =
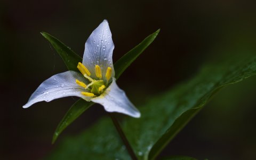
{"type": "MultiPolygon", "coordinates": [[[[87,37],[107,19],[116,61],[161,28],[155,42],[118,80],[140,106],[147,97],[193,77],[204,63],[247,50],[256,53],[255,18],[253,1],[1,1],[0,159],[42,159],[66,135],[76,135],[106,115],[101,106],[91,107],[51,145],[55,128],[76,98],[22,108],[39,84],[67,70],[40,31],[82,56],[87,37]]],[[[256,158],[255,80],[223,89],[159,157],[256,158]]]]}

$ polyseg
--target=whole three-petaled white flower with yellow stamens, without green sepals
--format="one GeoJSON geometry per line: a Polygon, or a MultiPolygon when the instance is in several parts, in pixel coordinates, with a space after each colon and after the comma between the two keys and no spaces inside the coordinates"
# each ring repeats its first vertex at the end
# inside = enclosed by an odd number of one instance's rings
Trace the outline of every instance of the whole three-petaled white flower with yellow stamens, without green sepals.
{"type": "Polygon", "coordinates": [[[77,65],[81,73],[66,71],[46,79],[23,108],[39,101],[77,96],[100,103],[106,111],[140,117],[140,112],[116,85],[111,36],[108,22],[104,20],[85,43],[83,62],[77,65]]]}

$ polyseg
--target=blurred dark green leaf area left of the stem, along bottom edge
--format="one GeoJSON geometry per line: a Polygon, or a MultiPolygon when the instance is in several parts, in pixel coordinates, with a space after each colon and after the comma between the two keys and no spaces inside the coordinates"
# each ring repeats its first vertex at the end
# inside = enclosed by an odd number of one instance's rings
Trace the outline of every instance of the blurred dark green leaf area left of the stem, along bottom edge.
{"type": "Polygon", "coordinates": [[[53,160],[131,159],[110,118],[102,118],[90,131],[64,139],[49,157],[53,160]],[[113,152],[115,151],[115,152],[113,152]]]}

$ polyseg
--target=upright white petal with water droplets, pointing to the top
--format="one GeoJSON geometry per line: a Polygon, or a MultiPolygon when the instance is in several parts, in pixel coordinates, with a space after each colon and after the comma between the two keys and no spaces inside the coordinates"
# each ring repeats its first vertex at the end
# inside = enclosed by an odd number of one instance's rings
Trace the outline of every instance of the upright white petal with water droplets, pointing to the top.
{"type": "Polygon", "coordinates": [[[89,69],[92,78],[96,78],[95,65],[100,66],[103,79],[106,80],[105,75],[108,67],[112,68],[111,77],[115,77],[112,60],[113,50],[114,43],[108,21],[103,20],[85,43],[83,65],[89,69]]]}

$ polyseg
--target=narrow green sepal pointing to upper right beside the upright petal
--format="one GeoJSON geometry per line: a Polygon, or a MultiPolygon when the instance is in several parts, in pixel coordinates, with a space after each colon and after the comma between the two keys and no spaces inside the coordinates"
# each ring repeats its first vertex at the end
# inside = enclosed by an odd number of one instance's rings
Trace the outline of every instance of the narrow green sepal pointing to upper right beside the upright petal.
{"type": "Polygon", "coordinates": [[[158,35],[160,29],[155,31],[155,33],[146,37],[140,44],[135,46],[131,51],[127,52],[120,58],[114,65],[116,79],[119,78],[122,73],[125,71],[127,67],[131,65],[131,63],[139,57],[139,55],[155,40],[158,35]]]}

